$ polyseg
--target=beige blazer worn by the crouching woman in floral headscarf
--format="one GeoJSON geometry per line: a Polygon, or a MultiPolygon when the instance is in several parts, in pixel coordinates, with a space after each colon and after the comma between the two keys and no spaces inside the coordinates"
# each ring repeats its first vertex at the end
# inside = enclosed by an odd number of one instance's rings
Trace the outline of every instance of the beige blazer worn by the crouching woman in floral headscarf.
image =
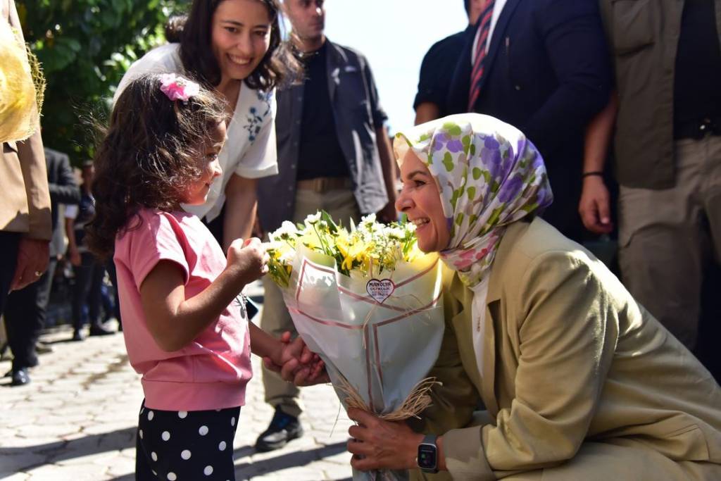
{"type": "Polygon", "coordinates": [[[721,389],[583,247],[541,219],[509,227],[480,373],[472,291],[447,287],[425,431],[454,480],[721,480],[721,389]]]}

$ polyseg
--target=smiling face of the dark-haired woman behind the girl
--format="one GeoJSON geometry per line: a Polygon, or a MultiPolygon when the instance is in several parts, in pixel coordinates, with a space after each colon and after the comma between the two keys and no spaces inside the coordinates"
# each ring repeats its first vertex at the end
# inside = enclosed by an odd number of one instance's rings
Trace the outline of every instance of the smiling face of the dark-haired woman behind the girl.
{"type": "Polygon", "coordinates": [[[253,73],[270,47],[270,14],[258,0],[224,0],[213,14],[211,43],[224,79],[253,73]]]}

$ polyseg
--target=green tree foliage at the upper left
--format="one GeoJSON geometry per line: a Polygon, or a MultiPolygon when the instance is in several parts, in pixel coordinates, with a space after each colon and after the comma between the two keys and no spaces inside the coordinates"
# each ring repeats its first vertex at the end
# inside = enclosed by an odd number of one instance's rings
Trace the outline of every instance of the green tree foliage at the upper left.
{"type": "Polygon", "coordinates": [[[87,119],[104,118],[128,67],[164,42],[163,25],[182,0],[16,0],[25,41],[43,66],[45,146],[74,164],[92,157],[87,119]]]}

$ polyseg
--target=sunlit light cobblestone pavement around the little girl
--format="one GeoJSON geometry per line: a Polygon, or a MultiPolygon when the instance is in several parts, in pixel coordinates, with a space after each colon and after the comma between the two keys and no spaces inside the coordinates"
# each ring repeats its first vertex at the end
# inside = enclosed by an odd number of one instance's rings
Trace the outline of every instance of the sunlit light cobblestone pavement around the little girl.
{"type": "MultiPolygon", "coordinates": [[[[27,386],[11,388],[9,378],[0,380],[0,480],[134,479],[143,393],[123,335],[72,343],[71,334],[61,327],[43,335],[53,352],[40,356],[27,386]]],[[[237,480],[350,479],[350,420],[329,385],[301,389],[305,436],[283,449],[255,453],[255,438],[273,410],[263,402],[255,356],[253,367],[234,443],[237,480]]],[[[9,369],[8,361],[0,362],[0,375],[9,369]]]]}

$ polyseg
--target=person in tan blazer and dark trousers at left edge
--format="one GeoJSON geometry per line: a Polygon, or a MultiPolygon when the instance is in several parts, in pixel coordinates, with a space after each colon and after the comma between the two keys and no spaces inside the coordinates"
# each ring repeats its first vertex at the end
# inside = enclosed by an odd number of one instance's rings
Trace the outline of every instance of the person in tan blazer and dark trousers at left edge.
{"type": "MultiPolygon", "coordinates": [[[[14,1],[0,0],[0,17],[25,42],[14,1]]],[[[1,314],[9,291],[37,281],[50,258],[50,193],[39,128],[25,141],[3,142],[0,192],[1,314]]]]}

